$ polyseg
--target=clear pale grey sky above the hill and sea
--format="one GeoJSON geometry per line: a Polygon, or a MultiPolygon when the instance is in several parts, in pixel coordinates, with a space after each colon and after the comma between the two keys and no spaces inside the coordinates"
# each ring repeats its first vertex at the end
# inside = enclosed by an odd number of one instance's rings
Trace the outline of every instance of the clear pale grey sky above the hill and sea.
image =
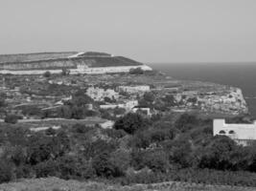
{"type": "Polygon", "coordinates": [[[0,54],[97,51],[142,62],[256,61],[255,0],[0,0],[0,54]]]}

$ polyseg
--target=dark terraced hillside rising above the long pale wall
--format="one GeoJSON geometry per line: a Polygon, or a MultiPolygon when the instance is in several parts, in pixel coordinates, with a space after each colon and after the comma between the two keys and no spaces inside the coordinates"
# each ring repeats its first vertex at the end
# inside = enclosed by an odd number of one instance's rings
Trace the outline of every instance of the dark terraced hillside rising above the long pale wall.
{"type": "Polygon", "coordinates": [[[124,56],[108,53],[28,53],[0,55],[0,70],[61,70],[77,69],[78,65],[88,68],[140,66],[140,62],[124,56]]]}

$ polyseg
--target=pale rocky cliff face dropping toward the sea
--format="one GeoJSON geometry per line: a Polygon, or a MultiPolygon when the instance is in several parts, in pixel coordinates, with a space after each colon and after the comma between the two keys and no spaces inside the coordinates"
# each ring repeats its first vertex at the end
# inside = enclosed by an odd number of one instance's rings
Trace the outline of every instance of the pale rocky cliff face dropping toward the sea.
{"type": "Polygon", "coordinates": [[[209,113],[240,115],[248,113],[242,90],[226,87],[211,92],[190,91],[177,94],[175,101],[187,109],[199,109],[209,113]]]}

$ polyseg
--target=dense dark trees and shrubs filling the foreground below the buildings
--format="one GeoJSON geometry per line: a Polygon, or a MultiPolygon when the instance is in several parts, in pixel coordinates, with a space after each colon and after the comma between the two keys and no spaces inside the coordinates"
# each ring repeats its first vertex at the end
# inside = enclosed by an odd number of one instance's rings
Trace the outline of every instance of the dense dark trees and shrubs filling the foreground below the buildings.
{"type": "MultiPolygon", "coordinates": [[[[87,103],[79,95],[72,101],[87,103]]],[[[151,119],[128,114],[113,129],[75,124],[35,133],[1,127],[0,141],[0,182],[55,176],[256,186],[255,143],[243,147],[213,137],[211,120],[189,114],[151,119]]]]}

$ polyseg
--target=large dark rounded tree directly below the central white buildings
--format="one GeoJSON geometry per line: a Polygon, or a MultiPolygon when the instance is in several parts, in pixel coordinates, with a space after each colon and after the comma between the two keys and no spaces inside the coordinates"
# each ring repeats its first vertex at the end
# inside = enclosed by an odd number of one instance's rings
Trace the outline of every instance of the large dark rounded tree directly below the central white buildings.
{"type": "Polygon", "coordinates": [[[142,130],[145,127],[147,127],[146,119],[133,113],[128,113],[126,116],[119,118],[114,124],[116,130],[122,129],[128,134],[134,134],[137,130],[142,130]]]}

